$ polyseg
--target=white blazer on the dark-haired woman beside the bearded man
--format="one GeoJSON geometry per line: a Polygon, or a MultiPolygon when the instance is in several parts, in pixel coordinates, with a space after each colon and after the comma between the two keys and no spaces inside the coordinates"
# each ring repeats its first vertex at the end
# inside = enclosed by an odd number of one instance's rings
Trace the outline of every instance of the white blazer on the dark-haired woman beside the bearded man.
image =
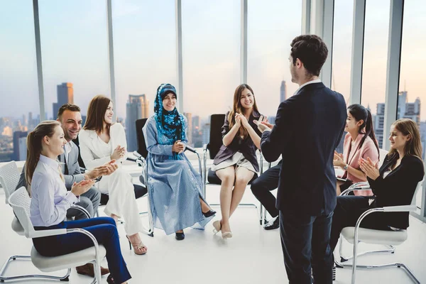
{"type": "MultiPolygon", "coordinates": [[[[114,149],[119,145],[127,149],[127,141],[126,141],[126,133],[124,132],[124,127],[119,124],[112,124],[109,129],[110,143],[112,144],[111,154],[114,153],[114,149]]],[[[99,167],[99,165],[104,165],[104,163],[108,163],[111,160],[111,154],[104,156],[104,154],[99,151],[100,143],[104,143],[101,138],[97,135],[94,130],[84,130],[80,131],[80,135],[78,136],[78,140],[80,142],[80,154],[82,155],[82,159],[84,165],[89,170],[93,168],[99,167]]],[[[120,158],[116,161],[118,165],[126,160],[127,158],[127,150],[126,154],[123,158],[120,158]]]]}

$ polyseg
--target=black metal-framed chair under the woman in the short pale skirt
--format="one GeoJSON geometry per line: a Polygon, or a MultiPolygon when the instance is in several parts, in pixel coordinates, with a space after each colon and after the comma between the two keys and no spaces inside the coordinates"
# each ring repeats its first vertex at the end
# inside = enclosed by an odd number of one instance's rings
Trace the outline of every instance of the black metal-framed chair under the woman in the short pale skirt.
{"type": "MultiPolygon", "coordinates": [[[[222,146],[222,126],[224,125],[225,121],[225,114],[212,114],[210,119],[210,138],[209,143],[204,144],[203,146],[203,161],[204,161],[204,175],[203,175],[203,182],[204,182],[204,198],[206,195],[206,187],[207,184],[209,185],[221,185],[222,180],[219,179],[219,177],[212,171],[210,168],[207,168],[207,151],[209,152],[209,158],[210,160],[214,160],[214,157],[219,152],[219,148],[222,146]]],[[[261,155],[260,158],[260,170],[261,173],[263,173],[263,156],[261,155]]],[[[249,185],[253,180],[255,180],[258,177],[257,174],[253,175],[253,178],[249,181],[249,185]]],[[[210,203],[210,205],[219,205],[215,203],[210,203]]],[[[253,203],[240,203],[239,206],[249,206],[249,207],[255,207],[257,208],[256,204],[253,203]]],[[[262,204],[260,205],[260,215],[259,219],[262,224],[262,215],[263,215],[263,207],[262,204]]]]}

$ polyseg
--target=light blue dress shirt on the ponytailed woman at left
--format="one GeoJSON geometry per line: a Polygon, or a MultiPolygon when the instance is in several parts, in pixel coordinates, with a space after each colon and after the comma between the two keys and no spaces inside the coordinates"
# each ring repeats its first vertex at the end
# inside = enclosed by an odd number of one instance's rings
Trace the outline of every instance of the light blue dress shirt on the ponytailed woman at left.
{"type": "Polygon", "coordinates": [[[64,221],[67,209],[80,202],[60,178],[59,163],[40,155],[31,180],[30,219],[33,226],[53,226],[64,221]]]}

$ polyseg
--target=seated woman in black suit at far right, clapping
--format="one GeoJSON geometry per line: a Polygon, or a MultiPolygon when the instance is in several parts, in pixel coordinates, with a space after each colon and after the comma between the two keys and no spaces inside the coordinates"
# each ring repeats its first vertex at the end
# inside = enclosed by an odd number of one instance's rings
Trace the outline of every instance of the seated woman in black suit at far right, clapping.
{"type": "MultiPolygon", "coordinates": [[[[366,173],[373,190],[374,201],[365,196],[338,196],[334,209],[330,247],[337,245],[340,232],[346,226],[355,226],[356,221],[366,210],[376,207],[411,204],[417,183],[425,174],[420,133],[414,121],[398,119],[391,126],[391,151],[386,155],[378,170],[377,163],[370,158],[361,158],[361,170],[366,173]]],[[[376,212],[367,215],[361,227],[379,230],[407,229],[408,212],[376,212]]]]}

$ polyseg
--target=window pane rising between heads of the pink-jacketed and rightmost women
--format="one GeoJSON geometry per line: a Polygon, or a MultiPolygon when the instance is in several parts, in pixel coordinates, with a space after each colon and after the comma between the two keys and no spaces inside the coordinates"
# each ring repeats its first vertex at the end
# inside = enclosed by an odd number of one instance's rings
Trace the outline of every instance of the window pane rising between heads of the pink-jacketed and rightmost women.
{"type": "Polygon", "coordinates": [[[361,104],[373,114],[380,148],[383,147],[390,7],[390,0],[366,1],[361,104]]]}

